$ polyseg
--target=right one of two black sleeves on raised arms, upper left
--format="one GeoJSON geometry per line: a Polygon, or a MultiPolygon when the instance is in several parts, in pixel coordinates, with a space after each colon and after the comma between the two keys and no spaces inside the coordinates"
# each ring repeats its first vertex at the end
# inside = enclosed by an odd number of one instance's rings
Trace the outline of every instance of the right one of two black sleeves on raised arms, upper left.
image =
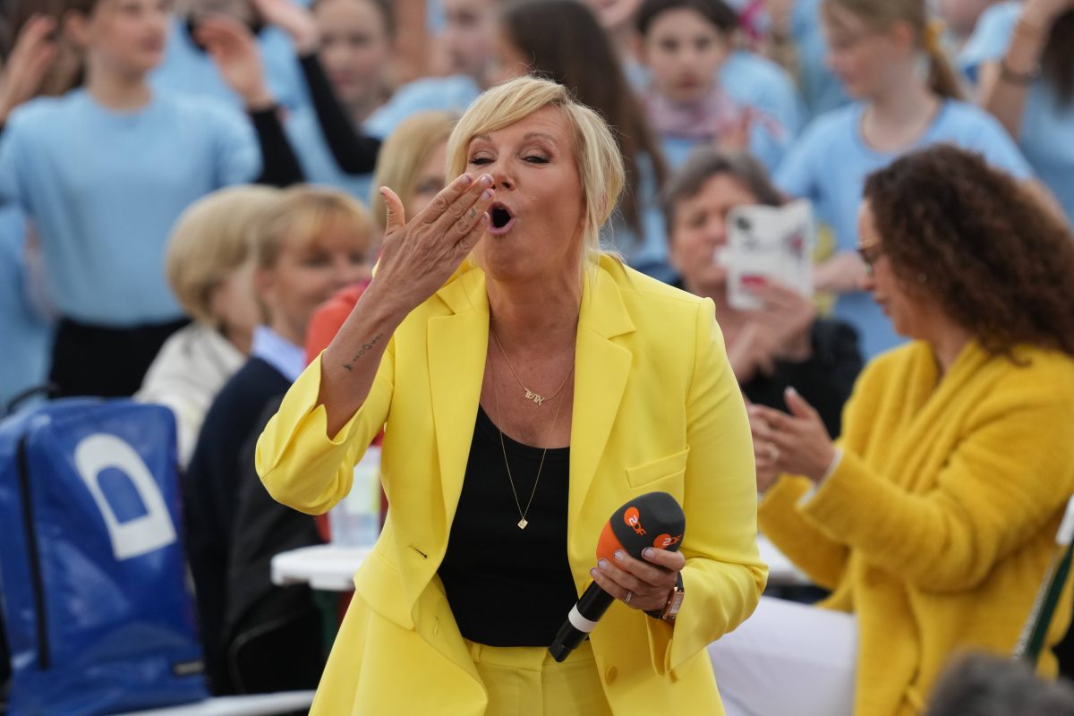
{"type": "Polygon", "coordinates": [[[317,54],[300,58],[324,142],[345,174],[368,174],[377,165],[380,140],[359,132],[344,112],[317,54]]]}

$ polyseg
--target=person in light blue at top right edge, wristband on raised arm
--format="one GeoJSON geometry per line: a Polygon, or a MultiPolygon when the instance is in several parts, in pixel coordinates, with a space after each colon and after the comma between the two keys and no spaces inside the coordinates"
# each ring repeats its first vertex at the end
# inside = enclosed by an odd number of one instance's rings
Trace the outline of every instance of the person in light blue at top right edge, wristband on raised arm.
{"type": "Polygon", "coordinates": [[[959,62],[1074,224],[1074,1],[989,9],[959,62]]]}

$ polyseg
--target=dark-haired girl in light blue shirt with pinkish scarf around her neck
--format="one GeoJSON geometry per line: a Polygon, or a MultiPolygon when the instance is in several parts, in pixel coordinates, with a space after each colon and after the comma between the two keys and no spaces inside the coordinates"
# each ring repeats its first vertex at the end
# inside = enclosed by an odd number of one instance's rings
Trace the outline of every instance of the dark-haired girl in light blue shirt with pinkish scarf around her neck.
{"type": "MultiPolygon", "coordinates": [[[[721,81],[732,54],[735,12],[722,0],[644,0],[637,27],[641,58],[651,71],[644,106],[668,163],[678,166],[693,147],[714,143],[749,148],[774,169],[792,129],[765,109],[740,103],[721,81]]],[[[763,84],[752,79],[743,84],[763,84]]]]}

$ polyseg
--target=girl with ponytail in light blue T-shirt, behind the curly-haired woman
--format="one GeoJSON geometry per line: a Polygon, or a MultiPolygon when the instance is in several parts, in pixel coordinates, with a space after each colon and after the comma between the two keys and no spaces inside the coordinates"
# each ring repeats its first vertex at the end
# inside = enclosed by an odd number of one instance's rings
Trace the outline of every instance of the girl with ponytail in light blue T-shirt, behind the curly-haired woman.
{"type": "Polygon", "coordinates": [[[775,184],[812,200],[817,217],[832,228],[836,254],[817,267],[816,288],[838,294],[834,315],[857,328],[862,352],[872,357],[901,339],[858,290],[865,269],[854,246],[866,175],[938,142],[981,151],[1019,179],[1032,171],[995,118],[957,99],[958,82],[925,0],[825,0],[823,21],[831,67],[857,101],[807,128],[775,184]]]}

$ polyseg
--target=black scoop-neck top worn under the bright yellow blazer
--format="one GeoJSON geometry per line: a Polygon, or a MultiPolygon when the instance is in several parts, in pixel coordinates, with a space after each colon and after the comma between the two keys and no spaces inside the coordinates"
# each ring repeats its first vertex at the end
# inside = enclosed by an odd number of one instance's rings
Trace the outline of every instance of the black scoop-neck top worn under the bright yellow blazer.
{"type": "Polygon", "coordinates": [[[519,529],[504,449],[525,510],[545,450],[506,435],[500,448],[499,430],[479,407],[440,580],[464,638],[548,646],[578,600],[567,561],[570,448],[548,451],[525,529],[519,529]]]}

